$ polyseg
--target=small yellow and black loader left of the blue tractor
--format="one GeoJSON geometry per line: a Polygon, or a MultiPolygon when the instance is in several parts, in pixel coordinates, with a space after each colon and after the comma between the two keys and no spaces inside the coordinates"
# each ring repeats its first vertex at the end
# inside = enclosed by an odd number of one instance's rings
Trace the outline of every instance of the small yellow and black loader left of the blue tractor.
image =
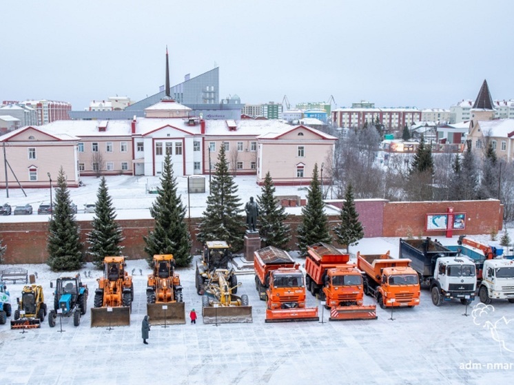
{"type": "Polygon", "coordinates": [[[21,300],[16,299],[18,309],[14,311],[11,329],[35,329],[41,327],[45,320],[46,304],[43,287],[31,284],[23,287],[21,300]]]}

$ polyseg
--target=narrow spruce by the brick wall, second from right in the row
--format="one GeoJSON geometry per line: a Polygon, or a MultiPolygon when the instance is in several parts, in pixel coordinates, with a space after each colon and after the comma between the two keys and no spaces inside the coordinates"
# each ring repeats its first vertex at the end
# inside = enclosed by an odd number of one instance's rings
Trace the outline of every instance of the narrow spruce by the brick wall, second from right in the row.
{"type": "Polygon", "coordinates": [[[307,205],[302,207],[302,222],[298,225],[297,231],[297,246],[302,256],[307,254],[307,246],[311,244],[331,242],[329,221],[323,211],[324,206],[318,180],[318,163],[316,163],[312,171],[311,185],[307,189],[307,205]]]}

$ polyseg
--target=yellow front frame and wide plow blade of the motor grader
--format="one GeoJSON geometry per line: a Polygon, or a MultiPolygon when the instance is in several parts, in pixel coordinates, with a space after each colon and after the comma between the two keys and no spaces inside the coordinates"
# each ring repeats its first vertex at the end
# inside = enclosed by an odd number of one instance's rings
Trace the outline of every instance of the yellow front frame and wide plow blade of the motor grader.
{"type": "Polygon", "coordinates": [[[248,296],[234,295],[240,286],[232,287],[227,281],[229,271],[226,269],[214,270],[205,284],[202,297],[202,315],[204,324],[232,324],[253,322],[251,306],[248,306],[248,296]]]}

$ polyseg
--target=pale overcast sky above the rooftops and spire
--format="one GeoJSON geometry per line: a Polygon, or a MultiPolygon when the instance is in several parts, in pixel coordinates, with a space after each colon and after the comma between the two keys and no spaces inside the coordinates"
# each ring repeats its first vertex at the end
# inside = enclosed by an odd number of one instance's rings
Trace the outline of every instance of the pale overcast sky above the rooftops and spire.
{"type": "Polygon", "coordinates": [[[242,103],[514,98],[514,1],[3,1],[0,100],[141,100],[220,67],[242,103]]]}

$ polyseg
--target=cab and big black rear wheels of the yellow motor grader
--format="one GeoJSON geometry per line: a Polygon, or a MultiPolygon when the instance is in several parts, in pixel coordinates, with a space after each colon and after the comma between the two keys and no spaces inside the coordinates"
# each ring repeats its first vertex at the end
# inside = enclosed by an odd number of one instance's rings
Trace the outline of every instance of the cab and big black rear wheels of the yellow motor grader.
{"type": "Polygon", "coordinates": [[[234,269],[228,269],[232,258],[230,246],[223,240],[205,242],[200,263],[196,262],[195,285],[196,293],[203,295],[207,282],[212,281],[212,274],[216,269],[225,272],[225,280],[232,287],[232,294],[237,293],[238,280],[234,269]]]}

